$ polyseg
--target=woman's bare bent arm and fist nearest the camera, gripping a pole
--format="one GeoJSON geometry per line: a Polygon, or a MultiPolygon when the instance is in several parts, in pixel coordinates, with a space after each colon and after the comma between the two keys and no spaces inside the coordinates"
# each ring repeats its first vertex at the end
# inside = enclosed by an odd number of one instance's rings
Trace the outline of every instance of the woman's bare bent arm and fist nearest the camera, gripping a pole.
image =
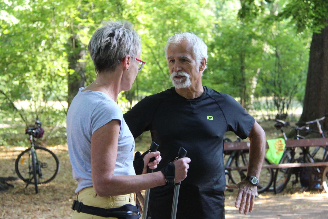
{"type": "MultiPolygon", "coordinates": [[[[161,171],[137,176],[114,175],[119,132],[120,121],[112,120],[92,134],[91,173],[93,188],[97,194],[123,195],[165,185],[165,177],[161,171]]],[[[174,164],[176,183],[186,178],[190,162],[189,158],[179,160],[174,164]]]]}

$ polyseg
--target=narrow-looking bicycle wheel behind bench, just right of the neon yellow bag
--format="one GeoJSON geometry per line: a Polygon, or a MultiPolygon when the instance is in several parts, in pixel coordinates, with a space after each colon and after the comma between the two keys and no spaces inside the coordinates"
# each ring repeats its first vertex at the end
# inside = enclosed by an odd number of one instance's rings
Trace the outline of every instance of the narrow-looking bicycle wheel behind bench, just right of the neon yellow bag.
{"type": "MultiPolygon", "coordinates": [[[[281,157],[279,164],[291,163],[292,155],[290,150],[286,150],[281,157]]],[[[292,175],[292,168],[277,168],[274,178],[274,191],[276,194],[282,192],[286,187],[290,177],[292,175]]]]}

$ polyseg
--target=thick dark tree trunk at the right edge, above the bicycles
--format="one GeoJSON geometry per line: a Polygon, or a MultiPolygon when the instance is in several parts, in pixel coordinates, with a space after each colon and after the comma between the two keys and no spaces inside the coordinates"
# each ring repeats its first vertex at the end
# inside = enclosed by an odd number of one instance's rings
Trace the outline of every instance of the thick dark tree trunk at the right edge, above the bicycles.
{"type": "MultiPolygon", "coordinates": [[[[328,23],[328,20],[327,20],[328,23]]],[[[300,121],[310,121],[328,113],[328,25],[313,33],[306,80],[303,113],[300,121]]],[[[324,120],[328,129],[328,119],[324,120]]]]}

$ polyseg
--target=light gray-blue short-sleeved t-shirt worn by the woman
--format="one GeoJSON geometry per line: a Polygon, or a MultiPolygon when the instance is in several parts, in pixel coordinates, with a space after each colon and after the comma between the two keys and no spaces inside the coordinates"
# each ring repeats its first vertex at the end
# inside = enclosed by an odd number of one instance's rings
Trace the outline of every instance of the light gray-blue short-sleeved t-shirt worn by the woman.
{"type": "Polygon", "coordinates": [[[75,192],[92,186],[91,136],[111,120],[120,120],[118,148],[114,175],[135,175],[133,168],[134,138],[123,119],[117,103],[100,91],[82,91],[72,100],[67,113],[67,144],[73,168],[73,179],[77,181],[75,192]]]}

